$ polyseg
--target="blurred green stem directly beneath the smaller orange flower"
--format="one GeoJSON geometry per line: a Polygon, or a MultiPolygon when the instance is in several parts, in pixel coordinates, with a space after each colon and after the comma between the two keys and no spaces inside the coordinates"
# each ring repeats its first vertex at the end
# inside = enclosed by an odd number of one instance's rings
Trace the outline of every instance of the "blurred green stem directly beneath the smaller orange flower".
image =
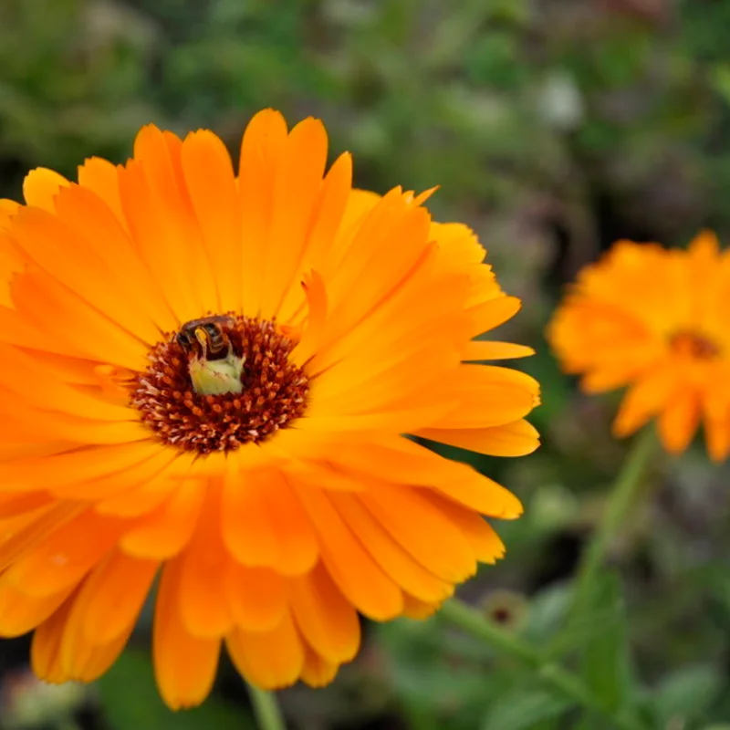
{"type": "Polygon", "coordinates": [[[636,498],[654,448],[655,437],[651,428],[645,428],[631,444],[631,451],[610,490],[608,506],[580,560],[573,593],[572,617],[581,615],[589,600],[596,574],[636,498]]]}

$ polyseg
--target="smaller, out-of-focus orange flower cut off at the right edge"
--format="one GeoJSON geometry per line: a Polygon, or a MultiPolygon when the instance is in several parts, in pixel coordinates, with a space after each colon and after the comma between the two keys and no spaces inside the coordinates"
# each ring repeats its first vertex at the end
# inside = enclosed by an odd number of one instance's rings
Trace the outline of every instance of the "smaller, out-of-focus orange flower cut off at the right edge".
{"type": "Polygon", "coordinates": [[[657,417],[679,454],[700,422],[714,461],[730,451],[730,257],[714,234],[687,250],[620,241],[586,266],[547,328],[586,392],[628,386],[613,422],[626,436],[657,417]]]}

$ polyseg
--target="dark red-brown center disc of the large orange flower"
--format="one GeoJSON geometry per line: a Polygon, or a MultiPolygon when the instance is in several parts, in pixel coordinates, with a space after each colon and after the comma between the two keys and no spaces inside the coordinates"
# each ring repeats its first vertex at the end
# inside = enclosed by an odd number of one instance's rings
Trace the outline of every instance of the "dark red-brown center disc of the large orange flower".
{"type": "Polygon", "coordinates": [[[131,404],[162,443],[210,454],[261,442],[302,415],[304,370],[273,322],[216,316],[187,322],[150,352],[131,404]]]}

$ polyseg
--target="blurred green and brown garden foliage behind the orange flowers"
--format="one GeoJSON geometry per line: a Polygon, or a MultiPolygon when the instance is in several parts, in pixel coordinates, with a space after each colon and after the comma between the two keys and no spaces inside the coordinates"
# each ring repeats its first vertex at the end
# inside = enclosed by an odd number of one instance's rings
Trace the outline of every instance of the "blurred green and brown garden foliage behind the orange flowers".
{"type": "MultiPolygon", "coordinates": [[[[461,595],[554,643],[626,444],[610,438],[617,398],[579,395],[542,328],[616,239],[685,245],[712,227],[727,240],[730,0],[0,0],[0,196],[18,199],[37,165],[73,176],[90,155],[122,162],[150,121],[211,128],[234,149],[263,107],[325,120],[360,187],[441,185],[436,216],[474,227],[523,298],[500,338],[537,349],[516,365],[543,384],[544,445],[473,457],[527,512],[497,526],[506,559],[461,595]]],[[[631,693],[647,726],[730,728],[728,475],[699,443],[657,460],[611,555],[622,588],[607,572],[592,620],[558,646],[575,666],[589,647],[589,681],[631,693]]],[[[0,643],[0,727],[252,728],[226,662],[202,708],[163,708],[150,620],[91,687],[36,683],[28,641],[0,643]]],[[[367,625],[336,683],[281,701],[294,730],[609,727],[438,619],[367,625]]]]}

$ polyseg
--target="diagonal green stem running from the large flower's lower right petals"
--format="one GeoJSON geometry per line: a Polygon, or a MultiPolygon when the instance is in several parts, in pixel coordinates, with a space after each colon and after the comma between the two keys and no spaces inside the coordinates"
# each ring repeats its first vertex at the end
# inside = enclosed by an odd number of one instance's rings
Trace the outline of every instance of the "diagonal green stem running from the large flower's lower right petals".
{"type": "Polygon", "coordinates": [[[610,714],[590,692],[577,674],[568,672],[556,662],[546,662],[542,653],[534,649],[514,633],[501,629],[479,611],[460,600],[452,599],[443,604],[441,615],[460,629],[468,631],[489,644],[498,652],[511,656],[530,667],[536,675],[559,694],[591,713],[610,720],[617,730],[641,730],[630,717],[610,714]]]}

